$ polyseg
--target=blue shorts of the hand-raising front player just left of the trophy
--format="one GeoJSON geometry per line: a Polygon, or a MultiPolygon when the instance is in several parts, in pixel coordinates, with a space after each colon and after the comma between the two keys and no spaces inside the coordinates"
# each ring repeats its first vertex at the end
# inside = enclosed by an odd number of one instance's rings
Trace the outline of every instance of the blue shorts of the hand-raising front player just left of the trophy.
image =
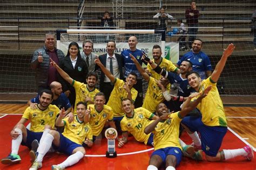
{"type": "Polygon", "coordinates": [[[52,145],[54,149],[56,149],[58,152],[65,153],[68,155],[72,155],[72,152],[77,147],[83,147],[82,145],[79,145],[68,138],[64,137],[63,134],[59,133],[60,139],[59,139],[59,146],[52,145]]]}

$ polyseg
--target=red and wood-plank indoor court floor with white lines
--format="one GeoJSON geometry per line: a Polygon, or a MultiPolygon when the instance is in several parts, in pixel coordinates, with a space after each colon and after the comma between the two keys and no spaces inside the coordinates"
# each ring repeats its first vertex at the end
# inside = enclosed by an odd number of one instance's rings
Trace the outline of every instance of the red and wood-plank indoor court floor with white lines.
{"type": "MultiPolygon", "coordinates": [[[[12,97],[6,97],[11,99],[12,97]]],[[[27,96],[23,97],[28,98],[27,96]]],[[[241,148],[245,145],[251,145],[254,149],[256,147],[255,138],[255,100],[253,98],[223,98],[225,105],[225,112],[228,120],[228,132],[224,137],[221,148],[235,149],[241,148]],[[237,100],[240,103],[232,103],[237,100]],[[251,103],[245,103],[250,101],[251,103]],[[225,104],[226,103],[226,104],[225,104]]],[[[2,97],[1,97],[2,100],[2,97]]],[[[3,100],[2,100],[3,101],[3,100]]],[[[13,101],[8,100],[7,103],[13,101]]],[[[19,101],[21,102],[21,101],[19,101]]],[[[1,143],[0,143],[0,158],[6,157],[11,149],[10,131],[12,127],[21,118],[22,112],[27,107],[25,104],[0,104],[0,124],[1,128],[1,143]]],[[[186,132],[183,132],[181,139],[190,144],[192,140],[186,132]]],[[[220,149],[221,149],[220,148],[220,149]]],[[[140,144],[135,141],[133,137],[129,138],[129,142],[125,144],[123,148],[116,146],[117,158],[106,158],[105,153],[107,150],[107,140],[97,139],[92,148],[86,148],[86,155],[83,160],[80,160],[77,164],[68,167],[67,169],[146,169],[149,163],[150,155],[153,148],[140,144]]],[[[21,146],[19,149],[19,155],[21,156],[21,163],[16,165],[2,165],[0,169],[29,169],[30,157],[29,149],[21,146]]],[[[51,165],[58,162],[62,162],[66,159],[66,155],[58,153],[48,153],[43,160],[43,167],[41,169],[50,169],[51,165]]],[[[162,168],[164,169],[164,168],[162,168]]],[[[247,161],[243,157],[237,157],[224,162],[208,162],[204,158],[203,161],[194,161],[190,158],[183,157],[180,165],[177,169],[256,169],[256,160],[247,161]]]]}

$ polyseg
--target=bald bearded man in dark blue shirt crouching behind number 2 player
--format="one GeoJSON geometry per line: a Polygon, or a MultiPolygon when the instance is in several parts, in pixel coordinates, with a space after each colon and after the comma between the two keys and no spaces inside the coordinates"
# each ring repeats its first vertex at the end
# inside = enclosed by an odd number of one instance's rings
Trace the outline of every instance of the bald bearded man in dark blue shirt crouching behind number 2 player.
{"type": "MultiPolygon", "coordinates": [[[[56,105],[59,109],[62,109],[64,107],[66,114],[71,112],[72,107],[69,102],[69,99],[62,92],[62,84],[60,84],[57,81],[53,81],[50,84],[50,88],[53,93],[53,98],[52,98],[53,100],[51,104],[56,105]]],[[[36,110],[36,108],[38,108],[38,104],[39,104],[39,95],[28,101],[28,105],[30,106],[31,110],[36,110]]]]}

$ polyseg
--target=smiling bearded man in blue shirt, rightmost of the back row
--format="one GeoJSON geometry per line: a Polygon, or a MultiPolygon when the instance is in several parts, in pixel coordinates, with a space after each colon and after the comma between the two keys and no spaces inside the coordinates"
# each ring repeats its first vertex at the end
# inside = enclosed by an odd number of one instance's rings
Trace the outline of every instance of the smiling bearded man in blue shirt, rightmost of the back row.
{"type": "Polygon", "coordinates": [[[190,62],[193,64],[192,71],[198,72],[203,80],[211,76],[212,65],[209,57],[203,51],[201,51],[202,46],[203,41],[198,38],[195,39],[192,44],[191,51],[185,53],[185,55],[179,59],[176,66],[180,67],[180,64],[184,60],[190,60],[190,62]]]}

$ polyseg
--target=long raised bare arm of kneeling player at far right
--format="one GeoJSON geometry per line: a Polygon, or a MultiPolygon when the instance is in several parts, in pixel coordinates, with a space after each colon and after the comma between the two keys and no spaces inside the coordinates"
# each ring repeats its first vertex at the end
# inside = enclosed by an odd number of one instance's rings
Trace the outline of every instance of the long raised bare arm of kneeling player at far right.
{"type": "Polygon", "coordinates": [[[217,82],[219,77],[220,77],[220,73],[223,71],[224,66],[226,64],[227,58],[231,56],[232,52],[234,51],[235,47],[234,44],[229,44],[227,46],[227,48],[224,50],[223,55],[221,56],[219,62],[217,63],[217,65],[215,66],[215,69],[211,75],[211,79],[214,82],[217,82]]]}

